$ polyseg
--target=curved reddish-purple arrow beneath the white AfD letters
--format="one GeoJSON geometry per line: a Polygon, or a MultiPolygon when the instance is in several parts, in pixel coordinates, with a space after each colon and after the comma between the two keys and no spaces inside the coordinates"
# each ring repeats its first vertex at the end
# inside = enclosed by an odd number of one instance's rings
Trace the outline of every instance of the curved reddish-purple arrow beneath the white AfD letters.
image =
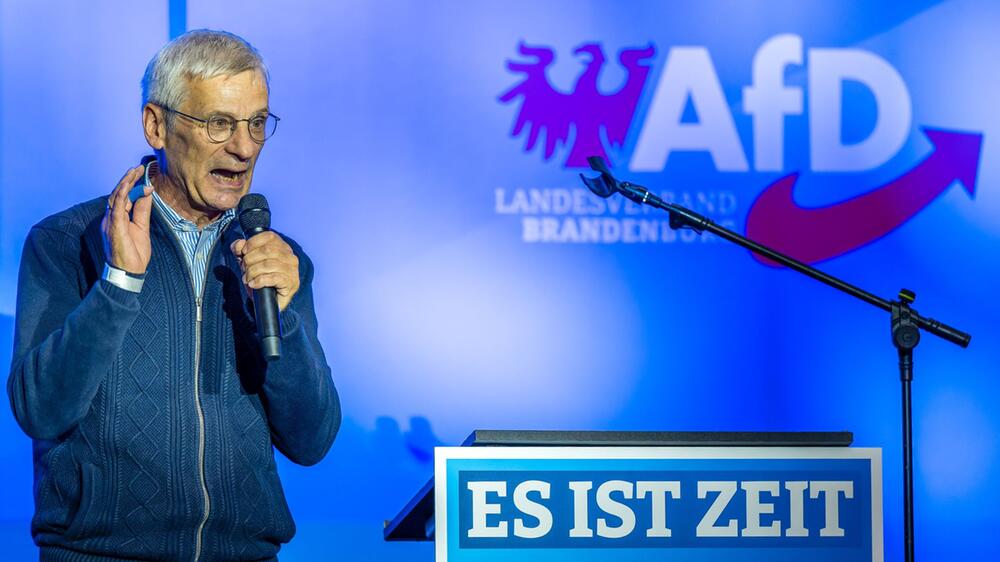
{"type": "Polygon", "coordinates": [[[747,236],[799,261],[816,263],[892,232],[955,180],[973,197],[983,135],[939,129],[924,129],[924,134],[934,150],[922,162],[889,183],[840,203],[800,207],[793,198],[798,172],[772,183],[750,207],[747,236]]]}

